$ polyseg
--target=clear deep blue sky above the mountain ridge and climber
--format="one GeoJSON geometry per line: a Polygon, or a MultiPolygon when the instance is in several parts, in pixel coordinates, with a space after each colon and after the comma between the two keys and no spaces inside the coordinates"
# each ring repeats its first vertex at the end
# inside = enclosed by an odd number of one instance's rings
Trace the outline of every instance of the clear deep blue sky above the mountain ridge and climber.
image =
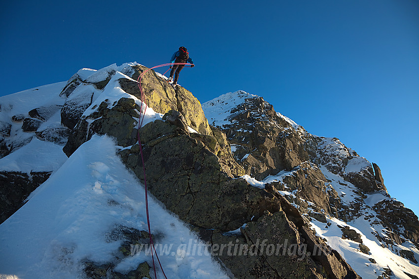
{"type": "MultiPolygon", "coordinates": [[[[419,214],[419,1],[4,1],[0,95],[83,67],[152,67],[179,46],[201,102],[244,90],[382,169],[419,214]]],[[[167,68],[161,68],[161,72],[167,68]]]]}

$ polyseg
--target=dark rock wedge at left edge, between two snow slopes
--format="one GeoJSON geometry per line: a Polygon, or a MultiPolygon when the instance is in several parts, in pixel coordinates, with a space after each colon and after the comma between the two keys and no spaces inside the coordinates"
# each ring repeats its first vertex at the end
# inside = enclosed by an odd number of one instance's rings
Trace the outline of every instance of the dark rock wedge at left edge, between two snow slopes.
{"type": "Polygon", "coordinates": [[[25,199],[39,185],[44,183],[51,172],[0,171],[0,223],[21,208],[25,199]]]}

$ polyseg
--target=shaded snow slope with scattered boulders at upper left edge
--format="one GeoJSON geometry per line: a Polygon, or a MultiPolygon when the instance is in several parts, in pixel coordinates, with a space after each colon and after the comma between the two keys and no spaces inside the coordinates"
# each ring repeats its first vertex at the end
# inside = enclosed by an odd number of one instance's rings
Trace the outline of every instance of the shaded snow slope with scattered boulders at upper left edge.
{"type": "Polygon", "coordinates": [[[35,133],[22,130],[22,123],[12,121],[16,115],[30,118],[28,112],[37,107],[56,107],[38,130],[61,127],[59,106],[65,99],[59,94],[65,85],[66,82],[59,82],[0,97],[0,121],[11,125],[10,136],[4,137],[4,141],[12,149],[10,155],[1,158],[0,171],[28,174],[31,171],[56,171],[67,160],[62,146],[36,139],[35,133]]]}

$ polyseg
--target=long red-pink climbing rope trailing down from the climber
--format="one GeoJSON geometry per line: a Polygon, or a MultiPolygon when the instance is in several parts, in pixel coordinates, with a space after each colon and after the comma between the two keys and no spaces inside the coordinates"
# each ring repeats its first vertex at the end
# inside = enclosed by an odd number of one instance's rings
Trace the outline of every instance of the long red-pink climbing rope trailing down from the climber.
{"type": "MultiPolygon", "coordinates": [[[[172,66],[172,65],[192,65],[192,64],[189,64],[189,63],[167,63],[167,64],[157,65],[157,66],[154,66],[154,67],[152,67],[152,68],[149,68],[148,70],[143,71],[143,72],[142,72],[142,73],[138,76],[138,79],[137,79],[137,82],[138,82],[138,88],[140,89],[140,93],[141,93],[140,119],[139,119],[139,122],[138,122],[137,137],[138,137],[138,144],[140,145],[140,154],[141,154],[141,162],[142,162],[142,171],[143,171],[143,173],[144,173],[145,211],[146,211],[146,216],[147,216],[148,235],[149,235],[149,237],[150,237],[150,246],[151,246],[150,251],[151,251],[151,258],[153,259],[154,278],[156,278],[156,279],[157,279],[157,274],[156,274],[156,266],[155,266],[155,264],[154,264],[154,254],[153,254],[153,250],[154,250],[154,252],[155,252],[155,254],[156,254],[157,261],[159,262],[160,269],[162,270],[164,277],[165,277],[166,279],[167,279],[167,277],[166,277],[166,274],[165,274],[165,272],[164,272],[164,270],[163,270],[162,264],[160,263],[160,259],[159,259],[159,256],[158,256],[158,254],[157,254],[156,248],[154,247],[153,239],[152,239],[152,237],[151,237],[150,218],[149,218],[149,215],[148,215],[148,194],[147,194],[147,181],[145,180],[144,155],[143,155],[143,153],[142,153],[142,146],[141,146],[141,141],[140,141],[140,128],[142,127],[142,122],[143,122],[143,120],[144,120],[145,111],[147,110],[147,104],[146,104],[146,103],[144,103],[144,92],[142,91],[142,88],[141,88],[141,79],[142,79],[142,76],[143,76],[146,72],[148,72],[149,70],[151,70],[151,69],[158,68],[158,67],[164,67],[164,66],[172,66]],[[142,113],[142,118],[141,118],[142,104],[145,104],[145,108],[144,108],[144,112],[142,113]]],[[[170,68],[169,68],[169,69],[170,69],[170,68]]],[[[164,74],[166,74],[168,71],[169,71],[169,70],[167,70],[164,74]]],[[[163,74],[163,75],[164,75],[164,74],[163,74]]]]}

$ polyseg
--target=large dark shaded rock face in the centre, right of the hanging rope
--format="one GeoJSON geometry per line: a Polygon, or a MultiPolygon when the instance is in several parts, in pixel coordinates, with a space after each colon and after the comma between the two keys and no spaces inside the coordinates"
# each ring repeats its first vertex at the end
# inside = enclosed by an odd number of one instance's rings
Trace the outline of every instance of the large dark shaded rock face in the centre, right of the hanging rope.
{"type": "MultiPolygon", "coordinates": [[[[223,171],[228,166],[223,166],[188,131],[157,120],[141,128],[140,138],[149,191],[192,225],[228,231],[260,216],[265,209],[278,210],[279,200],[275,196],[243,179],[233,179],[223,171]]],[[[120,155],[143,179],[139,146],[120,155]]]]}

